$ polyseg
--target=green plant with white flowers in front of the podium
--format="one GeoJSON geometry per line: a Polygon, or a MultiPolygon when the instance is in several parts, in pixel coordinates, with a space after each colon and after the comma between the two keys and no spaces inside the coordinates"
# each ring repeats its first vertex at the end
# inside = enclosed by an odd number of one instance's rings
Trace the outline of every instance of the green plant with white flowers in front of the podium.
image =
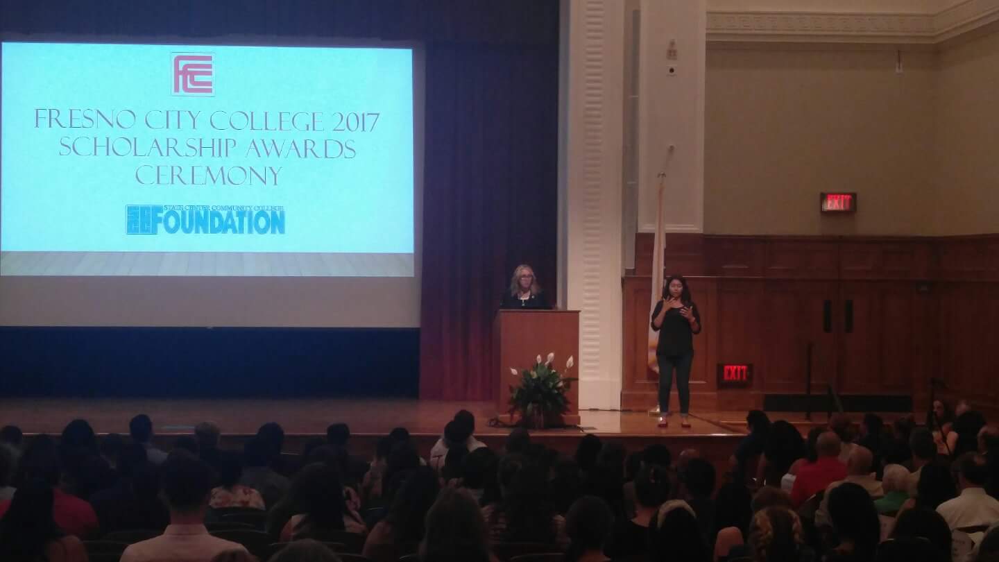
{"type": "MultiPolygon", "coordinates": [[[[548,353],[544,361],[538,355],[533,367],[519,372],[513,368],[509,370],[514,378],[519,379],[519,386],[509,386],[509,413],[519,413],[521,423],[525,425],[541,428],[547,419],[568,411],[566,392],[579,379],[563,377],[552,366],[554,360],[554,353],[548,353]]],[[[565,361],[565,372],[574,364],[572,357],[569,357],[565,361]]]]}

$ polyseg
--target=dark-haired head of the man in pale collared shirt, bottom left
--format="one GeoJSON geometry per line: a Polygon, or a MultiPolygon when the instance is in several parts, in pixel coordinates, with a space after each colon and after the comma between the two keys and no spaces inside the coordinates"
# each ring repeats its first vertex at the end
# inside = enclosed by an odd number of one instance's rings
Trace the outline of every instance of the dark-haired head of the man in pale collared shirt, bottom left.
{"type": "Polygon", "coordinates": [[[160,468],[160,485],[172,521],[203,521],[212,495],[212,468],[187,451],[175,451],[160,468]]]}

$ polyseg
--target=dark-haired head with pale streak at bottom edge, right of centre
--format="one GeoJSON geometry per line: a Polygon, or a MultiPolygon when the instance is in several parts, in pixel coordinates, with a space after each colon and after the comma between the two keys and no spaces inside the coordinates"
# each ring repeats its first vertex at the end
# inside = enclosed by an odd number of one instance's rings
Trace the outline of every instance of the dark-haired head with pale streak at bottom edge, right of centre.
{"type": "Polygon", "coordinates": [[[693,509],[681,500],[669,500],[659,507],[648,526],[650,562],[707,562],[711,553],[693,509]]]}

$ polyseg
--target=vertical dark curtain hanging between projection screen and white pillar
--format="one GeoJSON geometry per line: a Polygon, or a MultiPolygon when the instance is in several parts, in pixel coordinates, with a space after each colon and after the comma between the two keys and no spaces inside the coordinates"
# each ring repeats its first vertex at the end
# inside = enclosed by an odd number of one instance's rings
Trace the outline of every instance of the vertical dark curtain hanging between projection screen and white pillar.
{"type": "Polygon", "coordinates": [[[557,97],[556,37],[428,53],[421,398],[494,397],[493,317],[517,264],[556,297],[557,97]]]}

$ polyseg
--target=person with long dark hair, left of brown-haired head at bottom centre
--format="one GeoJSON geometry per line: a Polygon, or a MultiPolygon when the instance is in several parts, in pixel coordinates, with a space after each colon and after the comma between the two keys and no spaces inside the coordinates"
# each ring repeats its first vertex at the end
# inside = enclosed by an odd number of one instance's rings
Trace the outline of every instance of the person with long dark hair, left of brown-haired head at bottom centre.
{"type": "Polygon", "coordinates": [[[430,467],[413,470],[403,483],[385,519],[372,529],[362,554],[374,562],[396,562],[416,552],[423,540],[427,512],[441,487],[430,467]]]}

